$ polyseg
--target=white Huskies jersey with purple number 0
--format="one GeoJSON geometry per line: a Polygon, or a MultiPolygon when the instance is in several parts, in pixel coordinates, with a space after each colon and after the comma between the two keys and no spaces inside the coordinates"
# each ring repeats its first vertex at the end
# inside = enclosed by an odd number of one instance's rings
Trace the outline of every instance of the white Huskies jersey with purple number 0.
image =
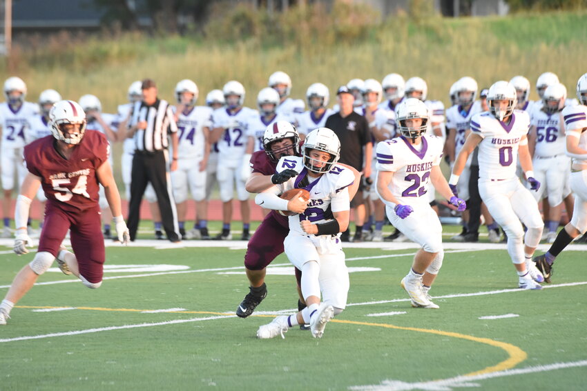
{"type": "Polygon", "coordinates": [[[471,119],[471,130],[483,138],[479,143],[479,178],[512,179],[516,177],[518,148],[530,128],[530,116],[514,110],[510,123],[506,125],[490,112],[475,114],[471,119]]]}

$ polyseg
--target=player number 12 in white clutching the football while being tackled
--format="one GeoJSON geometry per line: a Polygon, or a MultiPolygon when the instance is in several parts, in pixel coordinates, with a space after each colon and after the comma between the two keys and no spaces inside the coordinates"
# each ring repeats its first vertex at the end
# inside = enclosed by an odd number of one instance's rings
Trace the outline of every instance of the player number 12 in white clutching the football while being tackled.
{"type": "Polygon", "coordinates": [[[262,325],[258,338],[273,338],[304,323],[309,323],[314,338],[321,338],[326,323],[347,305],[349,272],[340,232],[349,225],[348,187],[355,177],[351,170],[336,164],[339,156],[336,134],[328,128],[313,130],[304,141],[302,157],[282,157],[278,161],[278,172],[289,169],[299,172],[298,176],[256,197],[256,202],[265,208],[300,213],[289,217],[284,247],[289,261],[302,271],[302,295],[307,304],[295,315],[283,315],[262,325]],[[297,188],[310,192],[309,201],[297,196],[291,200],[278,197],[297,188]]]}

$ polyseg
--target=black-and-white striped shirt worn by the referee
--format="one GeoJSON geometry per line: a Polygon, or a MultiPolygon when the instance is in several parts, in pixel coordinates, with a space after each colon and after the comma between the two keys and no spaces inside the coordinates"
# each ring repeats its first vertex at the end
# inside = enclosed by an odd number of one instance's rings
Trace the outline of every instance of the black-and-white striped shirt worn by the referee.
{"type": "Polygon", "coordinates": [[[140,121],[146,121],[145,129],[137,129],[133,140],[135,150],[144,152],[155,152],[166,150],[169,146],[169,133],[177,132],[177,124],[171,111],[171,106],[163,99],[157,99],[152,106],[147,106],[139,101],[133,106],[131,121],[128,121],[128,128],[140,121]]]}

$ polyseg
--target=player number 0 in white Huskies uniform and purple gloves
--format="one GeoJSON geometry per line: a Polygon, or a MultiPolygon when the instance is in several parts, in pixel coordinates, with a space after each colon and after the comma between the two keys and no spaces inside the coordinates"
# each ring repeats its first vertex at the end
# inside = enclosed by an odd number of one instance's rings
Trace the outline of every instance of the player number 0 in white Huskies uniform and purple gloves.
{"type": "Polygon", "coordinates": [[[516,176],[519,159],[530,183],[538,190],[528,152],[530,117],[515,110],[516,90],[507,81],[497,81],[488,92],[489,112],[475,114],[471,130],[456,157],[449,183],[454,186],[474,148],[479,146],[479,194],[492,217],[508,235],[508,253],[519,276],[519,288],[541,289],[542,274],[532,262],[532,254],[542,234],[538,205],[516,176]],[[521,222],[520,222],[521,221],[521,222]],[[526,236],[522,223],[526,225],[526,236]]]}

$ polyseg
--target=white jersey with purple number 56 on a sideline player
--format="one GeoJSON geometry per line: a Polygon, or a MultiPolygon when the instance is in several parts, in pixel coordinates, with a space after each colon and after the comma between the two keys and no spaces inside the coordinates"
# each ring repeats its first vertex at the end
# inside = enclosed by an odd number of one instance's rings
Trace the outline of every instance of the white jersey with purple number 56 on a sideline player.
{"type": "Polygon", "coordinates": [[[565,135],[561,132],[561,115],[547,114],[542,110],[535,112],[530,119],[530,125],[536,126],[535,157],[554,157],[565,154],[565,135]]]}

